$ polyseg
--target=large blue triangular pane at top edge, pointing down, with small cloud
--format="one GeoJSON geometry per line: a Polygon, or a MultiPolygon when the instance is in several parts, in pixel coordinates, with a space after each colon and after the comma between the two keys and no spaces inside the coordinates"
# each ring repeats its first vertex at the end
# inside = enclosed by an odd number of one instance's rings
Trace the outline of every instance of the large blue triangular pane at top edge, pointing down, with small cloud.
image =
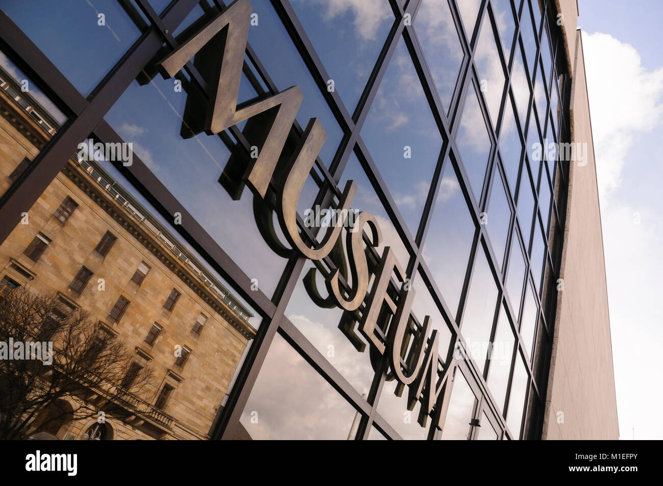
{"type": "Polygon", "coordinates": [[[394,21],[389,4],[383,0],[290,3],[352,113],[394,21]]]}

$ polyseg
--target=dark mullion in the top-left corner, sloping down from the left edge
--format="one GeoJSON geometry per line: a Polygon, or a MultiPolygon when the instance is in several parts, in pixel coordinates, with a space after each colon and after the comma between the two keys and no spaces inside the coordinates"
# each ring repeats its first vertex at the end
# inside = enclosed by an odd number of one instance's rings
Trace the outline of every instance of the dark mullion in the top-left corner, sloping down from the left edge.
{"type": "Polygon", "coordinates": [[[74,116],[80,115],[88,106],[69,80],[54,66],[30,38],[0,9],[1,47],[15,54],[11,56],[17,66],[37,82],[40,90],[48,97],[59,101],[56,105],[66,107],[74,116]],[[15,59],[14,59],[15,57],[15,59]]]}

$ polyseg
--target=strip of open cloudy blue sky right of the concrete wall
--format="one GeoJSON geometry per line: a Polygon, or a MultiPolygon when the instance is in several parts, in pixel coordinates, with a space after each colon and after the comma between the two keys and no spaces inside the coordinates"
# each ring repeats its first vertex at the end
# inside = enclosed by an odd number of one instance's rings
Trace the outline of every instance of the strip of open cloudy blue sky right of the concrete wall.
{"type": "Polygon", "coordinates": [[[579,0],[623,440],[663,438],[648,410],[663,395],[662,15],[656,0],[579,0]]]}

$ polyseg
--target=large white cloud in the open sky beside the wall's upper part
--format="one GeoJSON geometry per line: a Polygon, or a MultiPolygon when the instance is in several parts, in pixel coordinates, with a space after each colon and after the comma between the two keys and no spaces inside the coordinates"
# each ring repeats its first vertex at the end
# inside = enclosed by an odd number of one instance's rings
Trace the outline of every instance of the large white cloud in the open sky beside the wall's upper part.
{"type": "Polygon", "coordinates": [[[638,51],[609,34],[584,35],[583,50],[599,192],[606,196],[621,183],[633,135],[661,121],[663,68],[645,70],[638,51]]]}

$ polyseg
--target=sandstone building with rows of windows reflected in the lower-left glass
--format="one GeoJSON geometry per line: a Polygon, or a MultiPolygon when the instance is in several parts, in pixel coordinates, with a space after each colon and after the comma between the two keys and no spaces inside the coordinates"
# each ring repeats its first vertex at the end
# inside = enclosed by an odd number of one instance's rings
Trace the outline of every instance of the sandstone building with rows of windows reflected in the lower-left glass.
{"type": "MultiPolygon", "coordinates": [[[[30,116],[48,119],[44,109],[17,92],[4,70],[0,78],[4,192],[15,170],[25,166],[22,160],[34,158],[51,134],[30,116]]],[[[95,162],[68,161],[30,210],[27,224],[0,247],[0,278],[3,292],[25,285],[86,310],[135,352],[135,363],[154,368],[145,400],[135,397],[135,416],[127,422],[107,416],[101,438],[208,437],[255,336],[251,314],[95,162]]],[[[91,418],[47,428],[60,439],[80,439],[95,424],[91,418]]]]}

